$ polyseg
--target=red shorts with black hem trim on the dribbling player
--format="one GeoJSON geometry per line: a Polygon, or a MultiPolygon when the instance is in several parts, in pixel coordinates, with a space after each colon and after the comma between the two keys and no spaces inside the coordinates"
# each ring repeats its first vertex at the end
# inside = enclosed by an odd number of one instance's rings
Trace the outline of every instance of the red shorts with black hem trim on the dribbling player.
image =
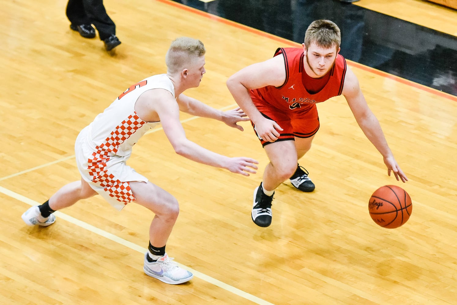
{"type": "MultiPolygon", "coordinates": [[[[267,119],[275,121],[283,130],[279,131],[280,136],[277,141],[287,141],[295,140],[297,138],[309,138],[317,133],[319,130],[319,115],[317,113],[316,104],[311,104],[306,108],[296,108],[296,109],[278,109],[261,99],[253,97],[251,95],[252,101],[260,111],[260,113],[267,119]]],[[[252,127],[255,125],[252,123],[252,127]]],[[[260,139],[262,146],[270,144],[272,142],[267,142],[260,139]]]]}

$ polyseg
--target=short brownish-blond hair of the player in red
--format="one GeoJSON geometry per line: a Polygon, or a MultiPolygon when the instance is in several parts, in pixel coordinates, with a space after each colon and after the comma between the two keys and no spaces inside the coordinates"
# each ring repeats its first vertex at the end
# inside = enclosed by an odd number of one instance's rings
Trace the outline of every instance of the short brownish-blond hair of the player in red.
{"type": "Polygon", "coordinates": [[[308,48],[313,42],[318,47],[332,48],[340,47],[341,32],[340,28],[333,21],[329,20],[316,20],[311,22],[305,33],[305,47],[308,48]]]}

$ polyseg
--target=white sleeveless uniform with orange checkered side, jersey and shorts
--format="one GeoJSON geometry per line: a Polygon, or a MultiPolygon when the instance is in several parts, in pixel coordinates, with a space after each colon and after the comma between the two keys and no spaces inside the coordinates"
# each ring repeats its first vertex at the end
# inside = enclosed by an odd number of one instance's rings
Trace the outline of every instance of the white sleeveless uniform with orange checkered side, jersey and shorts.
{"type": "Polygon", "coordinates": [[[175,97],[175,88],[166,74],[145,78],[119,95],[76,139],[76,164],[82,178],[118,210],[135,200],[130,181],[148,182],[126,161],[132,146],[159,124],[143,121],[134,109],[141,93],[157,88],[170,91],[175,97]]]}

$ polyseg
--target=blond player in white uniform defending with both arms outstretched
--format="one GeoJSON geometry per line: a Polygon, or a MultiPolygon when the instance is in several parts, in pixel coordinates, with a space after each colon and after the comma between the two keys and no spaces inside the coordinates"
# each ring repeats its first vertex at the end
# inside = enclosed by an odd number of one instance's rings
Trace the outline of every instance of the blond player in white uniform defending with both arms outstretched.
{"type": "Polygon", "coordinates": [[[183,92],[198,87],[206,72],[205,47],[197,39],[181,37],[171,43],[165,61],[167,73],[145,78],[124,91],[96,116],[76,139],[76,163],[80,181],[63,186],[48,201],[28,209],[22,219],[27,225],[49,226],[53,212],[80,199],[100,194],[118,210],[136,202],[154,212],[149,228],[149,247],[144,272],[168,284],[184,283],[192,274],[174,264],[165,244],[179,213],[175,197],[126,165],[132,146],[154,125],[161,123],[175,152],[199,163],[225,168],[249,176],[258,162],[251,158],[229,158],[206,150],[186,138],[179,111],[237,124],[249,120],[240,109],[222,112],[187,97],[183,92]]]}

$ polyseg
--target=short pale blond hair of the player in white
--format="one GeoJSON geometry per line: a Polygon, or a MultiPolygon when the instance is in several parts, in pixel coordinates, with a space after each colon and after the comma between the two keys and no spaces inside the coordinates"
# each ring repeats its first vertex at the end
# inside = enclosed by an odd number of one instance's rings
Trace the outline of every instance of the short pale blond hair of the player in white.
{"type": "Polygon", "coordinates": [[[165,55],[167,72],[171,74],[179,72],[192,59],[202,57],[205,53],[206,49],[202,41],[190,37],[176,38],[171,42],[165,55]]]}

